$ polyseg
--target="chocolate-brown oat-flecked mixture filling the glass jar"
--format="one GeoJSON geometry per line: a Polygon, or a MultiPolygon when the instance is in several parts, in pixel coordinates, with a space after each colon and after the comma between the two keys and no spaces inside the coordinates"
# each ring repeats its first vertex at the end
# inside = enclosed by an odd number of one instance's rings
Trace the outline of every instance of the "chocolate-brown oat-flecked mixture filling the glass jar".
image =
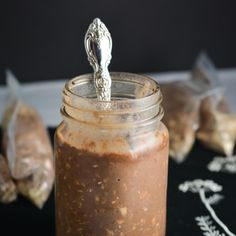
{"type": "Polygon", "coordinates": [[[165,235],[168,137],[135,160],[77,149],[57,134],[55,150],[57,236],[165,235]]]}

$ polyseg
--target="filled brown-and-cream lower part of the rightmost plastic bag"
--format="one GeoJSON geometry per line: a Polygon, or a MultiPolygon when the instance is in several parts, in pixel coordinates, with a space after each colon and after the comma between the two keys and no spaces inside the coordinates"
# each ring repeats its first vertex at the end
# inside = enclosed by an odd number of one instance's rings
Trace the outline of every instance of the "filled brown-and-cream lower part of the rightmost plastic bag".
{"type": "Polygon", "coordinates": [[[205,98],[200,107],[200,128],[197,138],[214,151],[231,156],[236,137],[236,117],[227,110],[224,99],[205,98]]]}

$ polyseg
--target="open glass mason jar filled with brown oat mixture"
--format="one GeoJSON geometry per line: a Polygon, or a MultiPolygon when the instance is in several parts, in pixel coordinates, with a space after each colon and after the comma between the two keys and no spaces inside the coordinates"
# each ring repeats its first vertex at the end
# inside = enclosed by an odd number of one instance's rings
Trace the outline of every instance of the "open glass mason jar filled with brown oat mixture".
{"type": "Polygon", "coordinates": [[[152,79],[111,73],[112,101],[93,75],[69,81],[55,133],[57,236],[165,235],[169,137],[152,79]]]}

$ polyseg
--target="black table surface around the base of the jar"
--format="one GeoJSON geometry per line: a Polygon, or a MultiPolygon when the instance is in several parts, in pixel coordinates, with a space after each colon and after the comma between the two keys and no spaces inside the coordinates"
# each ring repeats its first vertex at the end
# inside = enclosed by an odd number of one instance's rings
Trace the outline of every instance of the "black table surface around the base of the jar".
{"type": "MultiPolygon", "coordinates": [[[[54,129],[50,129],[52,139],[53,133],[54,129]]],[[[170,159],[166,236],[203,235],[195,217],[208,215],[207,210],[197,194],[178,190],[180,183],[193,179],[210,179],[223,186],[224,199],[214,209],[231,232],[236,233],[236,174],[208,171],[206,166],[216,155],[196,142],[183,164],[178,165],[170,159]]],[[[23,197],[9,205],[0,204],[0,235],[54,236],[54,210],[53,193],[42,210],[23,197]]]]}

